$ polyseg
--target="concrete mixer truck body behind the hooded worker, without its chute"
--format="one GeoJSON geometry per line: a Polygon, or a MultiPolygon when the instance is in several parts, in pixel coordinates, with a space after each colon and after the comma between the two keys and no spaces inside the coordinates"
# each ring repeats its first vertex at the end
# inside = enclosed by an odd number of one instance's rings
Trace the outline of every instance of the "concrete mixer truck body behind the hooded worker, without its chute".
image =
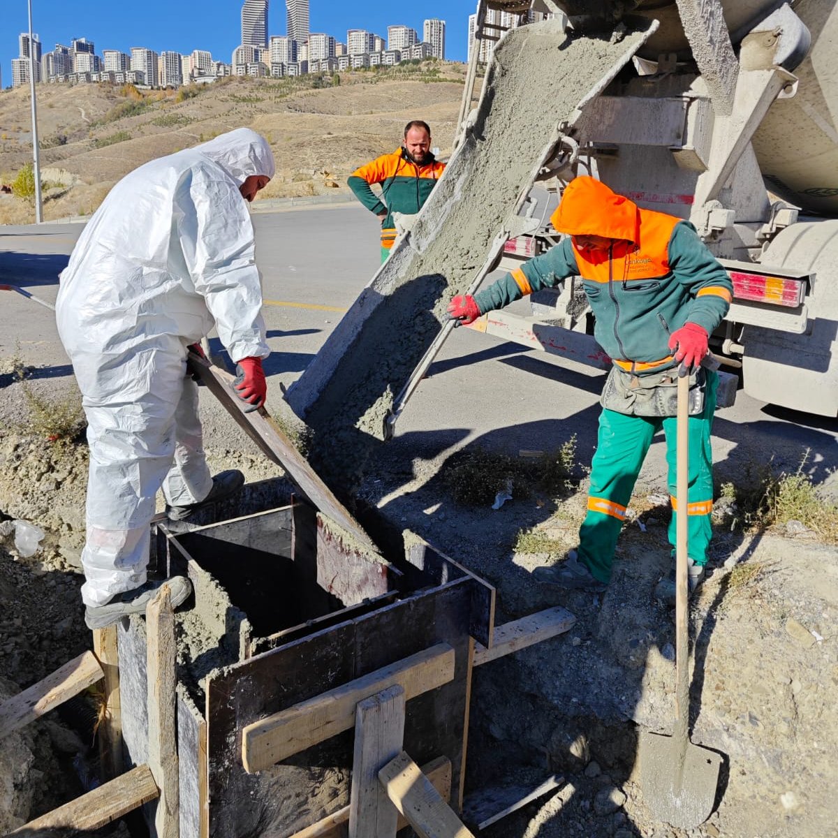
{"type": "MultiPolygon", "coordinates": [[[[749,395],[838,415],[835,0],[533,6],[566,13],[579,37],[639,18],[659,23],[539,177],[561,196],[569,178],[592,173],[641,206],[691,220],[734,286],[727,320],[713,336],[716,354],[741,363],[749,395]]],[[[510,240],[501,266],[535,256],[555,235],[541,225],[510,240]]],[[[567,334],[591,331],[572,283],[535,295],[533,313],[529,322],[492,313],[477,328],[596,360],[581,334],[567,334]]]]}

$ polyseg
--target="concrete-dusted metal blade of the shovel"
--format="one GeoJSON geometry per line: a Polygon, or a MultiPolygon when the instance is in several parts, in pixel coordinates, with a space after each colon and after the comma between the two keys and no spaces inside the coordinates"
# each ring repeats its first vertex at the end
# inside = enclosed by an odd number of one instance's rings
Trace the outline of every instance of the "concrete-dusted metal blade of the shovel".
{"type": "Polygon", "coordinates": [[[710,817],[722,758],[710,748],[687,742],[680,770],[678,746],[675,737],[644,732],[640,739],[640,777],[652,815],[689,830],[710,817]]]}

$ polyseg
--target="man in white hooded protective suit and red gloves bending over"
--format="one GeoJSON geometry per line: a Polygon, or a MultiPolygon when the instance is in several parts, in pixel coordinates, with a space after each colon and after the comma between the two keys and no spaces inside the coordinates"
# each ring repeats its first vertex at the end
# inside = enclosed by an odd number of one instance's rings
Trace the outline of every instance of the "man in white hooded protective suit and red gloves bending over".
{"type": "MultiPolygon", "coordinates": [[[[187,347],[215,326],[238,373],[238,395],[265,401],[251,201],[273,177],[271,148],[240,128],[137,168],[111,189],[62,272],[56,313],[87,416],[90,478],[81,560],[91,629],[143,613],[149,522],[163,488],[170,518],[241,487],[209,474],[187,347]]],[[[168,580],[172,604],[189,596],[168,580]]]]}

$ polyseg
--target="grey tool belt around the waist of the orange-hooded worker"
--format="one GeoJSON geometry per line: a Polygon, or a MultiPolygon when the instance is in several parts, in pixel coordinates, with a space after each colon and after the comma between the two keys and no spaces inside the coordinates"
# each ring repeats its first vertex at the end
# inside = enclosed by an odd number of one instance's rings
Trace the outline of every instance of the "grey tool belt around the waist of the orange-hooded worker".
{"type": "MultiPolygon", "coordinates": [[[[704,367],[690,376],[690,416],[704,410],[707,375],[704,367]]],[[[678,368],[647,375],[613,366],[599,403],[626,416],[676,416],[678,413],[678,368]]]]}

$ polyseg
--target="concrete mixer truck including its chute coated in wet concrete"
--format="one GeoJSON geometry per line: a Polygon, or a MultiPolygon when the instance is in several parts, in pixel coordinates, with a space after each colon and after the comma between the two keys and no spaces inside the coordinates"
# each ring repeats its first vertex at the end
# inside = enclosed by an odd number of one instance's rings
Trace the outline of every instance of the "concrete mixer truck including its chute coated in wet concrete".
{"type": "MultiPolygon", "coordinates": [[[[534,186],[579,173],[696,225],[734,286],[711,347],[748,394],[838,416],[836,0],[480,0],[477,34],[498,40],[445,173],[287,392],[321,460],[391,435],[448,301],[554,243],[534,186]]],[[[534,303],[474,328],[608,365],[574,282],[534,303]]]]}

